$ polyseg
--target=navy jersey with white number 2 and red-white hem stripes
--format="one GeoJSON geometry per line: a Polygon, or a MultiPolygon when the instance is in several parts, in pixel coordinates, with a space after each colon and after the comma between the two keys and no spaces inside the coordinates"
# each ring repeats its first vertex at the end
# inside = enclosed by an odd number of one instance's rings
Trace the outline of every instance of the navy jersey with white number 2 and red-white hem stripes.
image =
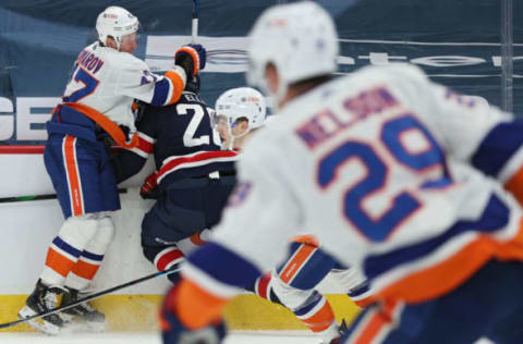
{"type": "Polygon", "coordinates": [[[192,91],[168,107],[146,106],[136,130],[139,146],[119,155],[121,182],[138,172],[149,153],[155,155],[158,183],[182,177],[206,176],[233,171],[238,153],[221,150],[218,133],[210,123],[210,108],[192,91]]]}

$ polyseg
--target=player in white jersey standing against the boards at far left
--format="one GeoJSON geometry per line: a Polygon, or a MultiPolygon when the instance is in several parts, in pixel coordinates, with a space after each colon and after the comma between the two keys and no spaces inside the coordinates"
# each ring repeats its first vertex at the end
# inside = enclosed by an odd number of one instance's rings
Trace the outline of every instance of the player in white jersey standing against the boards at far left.
{"type": "MultiPolygon", "coordinates": [[[[62,103],[47,123],[44,159],[65,221],[48,249],[35,291],[19,312],[21,318],[54,308],[59,294],[63,294],[62,305],[76,300],[95,277],[114,234],[109,211],[120,209],[107,146],[138,145],[133,99],[160,107],[173,103],[187,76],[196,75],[205,64],[205,50],[190,46],[177,51],[177,65],[165,76],[150,73],[145,62],[132,54],[138,26],[136,16],[119,7],[98,15],[98,40],[74,62],[62,103]]],[[[71,317],[105,320],[102,314],[82,305],[29,323],[58,333],[64,318],[71,317]]]]}

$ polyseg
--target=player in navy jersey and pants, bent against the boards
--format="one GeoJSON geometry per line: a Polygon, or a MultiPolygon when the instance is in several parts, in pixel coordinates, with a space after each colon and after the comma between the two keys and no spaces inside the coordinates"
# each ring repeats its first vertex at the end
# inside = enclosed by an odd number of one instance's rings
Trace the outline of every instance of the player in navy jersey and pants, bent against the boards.
{"type": "Polygon", "coordinates": [[[142,222],[142,246],[158,271],[202,244],[235,184],[238,153],[221,149],[209,112],[199,95],[199,77],[194,77],[177,103],[142,109],[136,122],[139,145],[114,159],[122,171],[118,180],[123,181],[142,169],[149,153],[155,156],[157,172],[147,177],[142,194],[159,196],[142,222]]]}

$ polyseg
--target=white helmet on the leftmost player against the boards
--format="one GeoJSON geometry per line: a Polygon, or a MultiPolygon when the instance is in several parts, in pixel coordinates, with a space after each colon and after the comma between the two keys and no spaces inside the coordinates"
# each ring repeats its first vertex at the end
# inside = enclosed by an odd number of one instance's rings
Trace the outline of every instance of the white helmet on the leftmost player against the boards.
{"type": "Polygon", "coordinates": [[[117,41],[118,49],[122,42],[122,37],[136,33],[139,28],[139,22],[136,16],[124,8],[111,5],[98,14],[96,20],[96,30],[98,39],[107,45],[107,37],[111,36],[117,41]]]}

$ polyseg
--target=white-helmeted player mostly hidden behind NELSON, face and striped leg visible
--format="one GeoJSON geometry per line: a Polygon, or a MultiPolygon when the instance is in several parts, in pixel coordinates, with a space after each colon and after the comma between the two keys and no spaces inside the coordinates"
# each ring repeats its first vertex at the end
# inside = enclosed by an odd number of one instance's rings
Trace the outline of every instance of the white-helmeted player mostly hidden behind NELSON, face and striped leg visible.
{"type": "MultiPolygon", "coordinates": [[[[224,147],[241,151],[251,136],[266,123],[264,96],[251,87],[231,88],[215,106],[215,124],[224,147]]],[[[275,124],[278,125],[278,124],[275,124]]],[[[241,159],[241,156],[240,156],[241,159]]],[[[281,237],[287,241],[288,238],[281,237]]],[[[301,235],[290,241],[288,258],[278,269],[267,272],[246,288],[272,303],[283,305],[313,332],[329,343],[340,336],[340,329],[327,298],[315,287],[332,272],[351,297],[364,281],[353,270],[344,269],[319,247],[314,236],[301,235]]]]}

